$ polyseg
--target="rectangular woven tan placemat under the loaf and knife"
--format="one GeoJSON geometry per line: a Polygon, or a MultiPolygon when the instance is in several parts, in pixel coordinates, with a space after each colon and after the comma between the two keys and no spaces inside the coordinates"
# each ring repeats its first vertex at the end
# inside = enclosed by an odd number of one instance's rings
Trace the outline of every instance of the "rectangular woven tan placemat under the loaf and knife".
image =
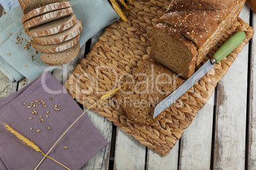
{"type": "MultiPolygon", "coordinates": [[[[136,70],[142,60],[150,58],[152,28],[157,24],[159,16],[163,15],[170,2],[140,0],[129,4],[130,10],[124,10],[127,23],[119,20],[106,28],[89,55],[77,65],[65,84],[69,93],[88,108],[106,92],[120,86],[122,81],[125,82],[127,76],[136,70]]],[[[220,63],[215,64],[215,68],[169,107],[155,124],[151,126],[132,124],[125,119],[122,108],[115,105],[115,98],[104,101],[92,110],[107,117],[113,124],[134,136],[146,147],[162,155],[169,154],[184,129],[188,128],[196,113],[213,94],[215,86],[226,74],[243,46],[252,38],[252,27],[238,18],[206,56],[205,60],[239,30],[246,32],[246,39],[239,47],[220,63]]]]}

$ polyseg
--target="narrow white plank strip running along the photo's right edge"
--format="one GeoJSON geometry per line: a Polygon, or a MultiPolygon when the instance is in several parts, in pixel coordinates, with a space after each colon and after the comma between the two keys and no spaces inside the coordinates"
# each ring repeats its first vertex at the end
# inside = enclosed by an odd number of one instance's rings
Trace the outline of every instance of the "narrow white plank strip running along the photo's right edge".
{"type": "MultiPolygon", "coordinates": [[[[252,27],[256,26],[256,14],[253,13],[252,27]]],[[[248,169],[256,167],[256,38],[252,38],[252,53],[250,65],[250,96],[249,96],[249,140],[248,140],[248,169]]]]}

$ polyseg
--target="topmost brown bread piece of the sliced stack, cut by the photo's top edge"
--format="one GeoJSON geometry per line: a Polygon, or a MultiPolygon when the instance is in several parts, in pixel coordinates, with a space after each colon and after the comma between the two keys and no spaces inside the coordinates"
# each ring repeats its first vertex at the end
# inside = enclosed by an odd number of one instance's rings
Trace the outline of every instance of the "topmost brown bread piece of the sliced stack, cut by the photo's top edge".
{"type": "Polygon", "coordinates": [[[65,1],[68,0],[18,0],[24,15],[29,13],[29,11],[45,6],[47,4],[60,3],[65,1]]]}

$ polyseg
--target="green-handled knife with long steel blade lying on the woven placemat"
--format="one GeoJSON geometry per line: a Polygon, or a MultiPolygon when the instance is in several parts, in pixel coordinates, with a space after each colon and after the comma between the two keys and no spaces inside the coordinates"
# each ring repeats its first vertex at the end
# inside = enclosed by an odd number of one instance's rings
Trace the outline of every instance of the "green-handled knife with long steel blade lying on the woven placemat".
{"type": "Polygon", "coordinates": [[[153,118],[157,117],[160,113],[166,110],[171,104],[174,103],[181,95],[183,95],[188,89],[190,89],[197,81],[199,81],[207,72],[213,69],[215,63],[220,62],[225,56],[229,55],[234,49],[236,49],[241,42],[245,39],[246,34],[243,31],[239,31],[230,37],[224,44],[218,48],[213,57],[208,60],[204,65],[197,70],[187,81],[176,89],[171,95],[162,100],[156,107],[153,113],[153,118]]]}

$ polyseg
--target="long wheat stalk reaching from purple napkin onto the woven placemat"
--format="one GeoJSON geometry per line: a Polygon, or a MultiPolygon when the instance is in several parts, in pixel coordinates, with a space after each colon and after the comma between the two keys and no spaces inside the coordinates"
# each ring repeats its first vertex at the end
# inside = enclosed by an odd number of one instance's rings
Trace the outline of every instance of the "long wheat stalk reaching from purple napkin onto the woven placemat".
{"type": "Polygon", "coordinates": [[[69,129],[92,107],[94,107],[94,105],[97,105],[97,103],[99,103],[99,101],[101,100],[108,100],[109,98],[111,98],[112,96],[115,96],[117,94],[117,92],[124,86],[125,84],[123,84],[122,86],[111,90],[110,92],[106,93],[105,95],[103,95],[96,103],[94,103],[93,105],[91,105],[89,108],[87,108],[87,110],[85,110],[85,112],[83,112],[82,115],[80,115],[78,117],[78,119],[76,119],[75,122],[73,122],[73,124],[71,124],[71,126],[69,126],[69,128],[60,136],[60,138],[54,143],[54,145],[52,146],[52,148],[50,148],[50,150],[47,152],[47,154],[45,154],[45,157],[43,157],[43,159],[38,163],[38,166],[35,167],[34,170],[38,169],[38,167],[41,165],[41,163],[43,162],[43,160],[45,160],[46,157],[48,157],[47,155],[52,151],[52,149],[55,147],[55,145],[57,145],[57,143],[60,141],[60,139],[69,131],[69,129]]]}

